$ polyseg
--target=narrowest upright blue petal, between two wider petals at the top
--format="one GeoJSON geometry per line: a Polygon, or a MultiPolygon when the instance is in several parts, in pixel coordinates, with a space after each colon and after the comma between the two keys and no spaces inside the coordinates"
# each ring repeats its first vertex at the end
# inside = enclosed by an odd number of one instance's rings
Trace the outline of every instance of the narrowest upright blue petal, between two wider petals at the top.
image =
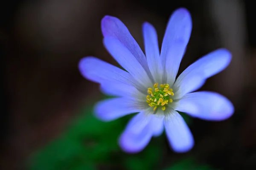
{"type": "Polygon", "coordinates": [[[160,60],[157,32],[150,23],[143,24],[143,37],[148,67],[155,82],[162,82],[163,66],[160,60]]]}

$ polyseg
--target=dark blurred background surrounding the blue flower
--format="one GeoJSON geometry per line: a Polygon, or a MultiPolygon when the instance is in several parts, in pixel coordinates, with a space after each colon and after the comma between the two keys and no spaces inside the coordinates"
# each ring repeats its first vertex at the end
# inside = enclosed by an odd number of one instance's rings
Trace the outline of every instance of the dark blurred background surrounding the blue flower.
{"type": "Polygon", "coordinates": [[[1,170],[177,170],[193,169],[194,164],[204,164],[201,169],[256,169],[252,0],[5,0],[0,8],[1,170]],[[122,20],[144,50],[142,23],[155,26],[161,45],[178,7],[186,7],[193,20],[180,71],[216,48],[229,49],[230,66],[202,89],[227,96],[236,112],[222,122],[187,118],[195,137],[189,153],[173,153],[164,135],[152,139],[150,151],[122,153],[116,140],[128,118],[104,125],[88,118],[91,106],[105,96],[80,75],[78,62],[92,55],[116,65],[102,44],[105,15],[122,20]],[[112,141],[104,142],[108,137],[112,141]]]}

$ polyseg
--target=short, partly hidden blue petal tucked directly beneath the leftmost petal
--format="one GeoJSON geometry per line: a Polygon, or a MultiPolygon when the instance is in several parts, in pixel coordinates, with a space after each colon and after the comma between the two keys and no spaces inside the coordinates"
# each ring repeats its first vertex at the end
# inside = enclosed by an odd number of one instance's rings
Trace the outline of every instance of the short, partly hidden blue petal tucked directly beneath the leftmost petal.
{"type": "Polygon", "coordinates": [[[132,98],[132,99],[144,99],[145,100],[145,94],[140,93],[140,91],[137,90],[132,85],[128,85],[125,83],[115,83],[115,82],[102,82],[101,84],[101,91],[104,94],[110,95],[110,96],[120,96],[120,97],[126,97],[126,98],[132,98]]]}

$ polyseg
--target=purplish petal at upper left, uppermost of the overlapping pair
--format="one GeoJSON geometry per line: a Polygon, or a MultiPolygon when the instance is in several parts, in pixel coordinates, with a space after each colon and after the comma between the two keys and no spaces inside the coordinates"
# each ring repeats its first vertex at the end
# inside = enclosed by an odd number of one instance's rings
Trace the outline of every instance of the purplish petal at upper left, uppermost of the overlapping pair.
{"type": "Polygon", "coordinates": [[[149,71],[146,57],[143,54],[138,43],[131,36],[126,26],[116,17],[105,16],[101,22],[102,34],[104,37],[113,37],[119,40],[137,59],[142,67],[147,72],[149,78],[153,80],[153,77],[149,71]]]}

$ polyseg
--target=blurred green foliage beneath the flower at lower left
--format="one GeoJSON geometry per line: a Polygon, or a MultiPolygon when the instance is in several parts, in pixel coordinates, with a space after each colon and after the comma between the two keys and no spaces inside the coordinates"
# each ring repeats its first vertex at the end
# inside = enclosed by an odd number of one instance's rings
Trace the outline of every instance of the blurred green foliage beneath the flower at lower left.
{"type": "MultiPolygon", "coordinates": [[[[189,117],[181,114],[186,122],[191,122],[189,117]]],[[[126,170],[157,169],[164,135],[153,138],[142,152],[127,154],[119,148],[117,140],[134,115],[102,122],[93,116],[92,107],[82,109],[78,115],[62,136],[31,156],[30,170],[97,170],[99,166],[126,170]]],[[[172,167],[172,170],[179,166],[172,167]]]]}

